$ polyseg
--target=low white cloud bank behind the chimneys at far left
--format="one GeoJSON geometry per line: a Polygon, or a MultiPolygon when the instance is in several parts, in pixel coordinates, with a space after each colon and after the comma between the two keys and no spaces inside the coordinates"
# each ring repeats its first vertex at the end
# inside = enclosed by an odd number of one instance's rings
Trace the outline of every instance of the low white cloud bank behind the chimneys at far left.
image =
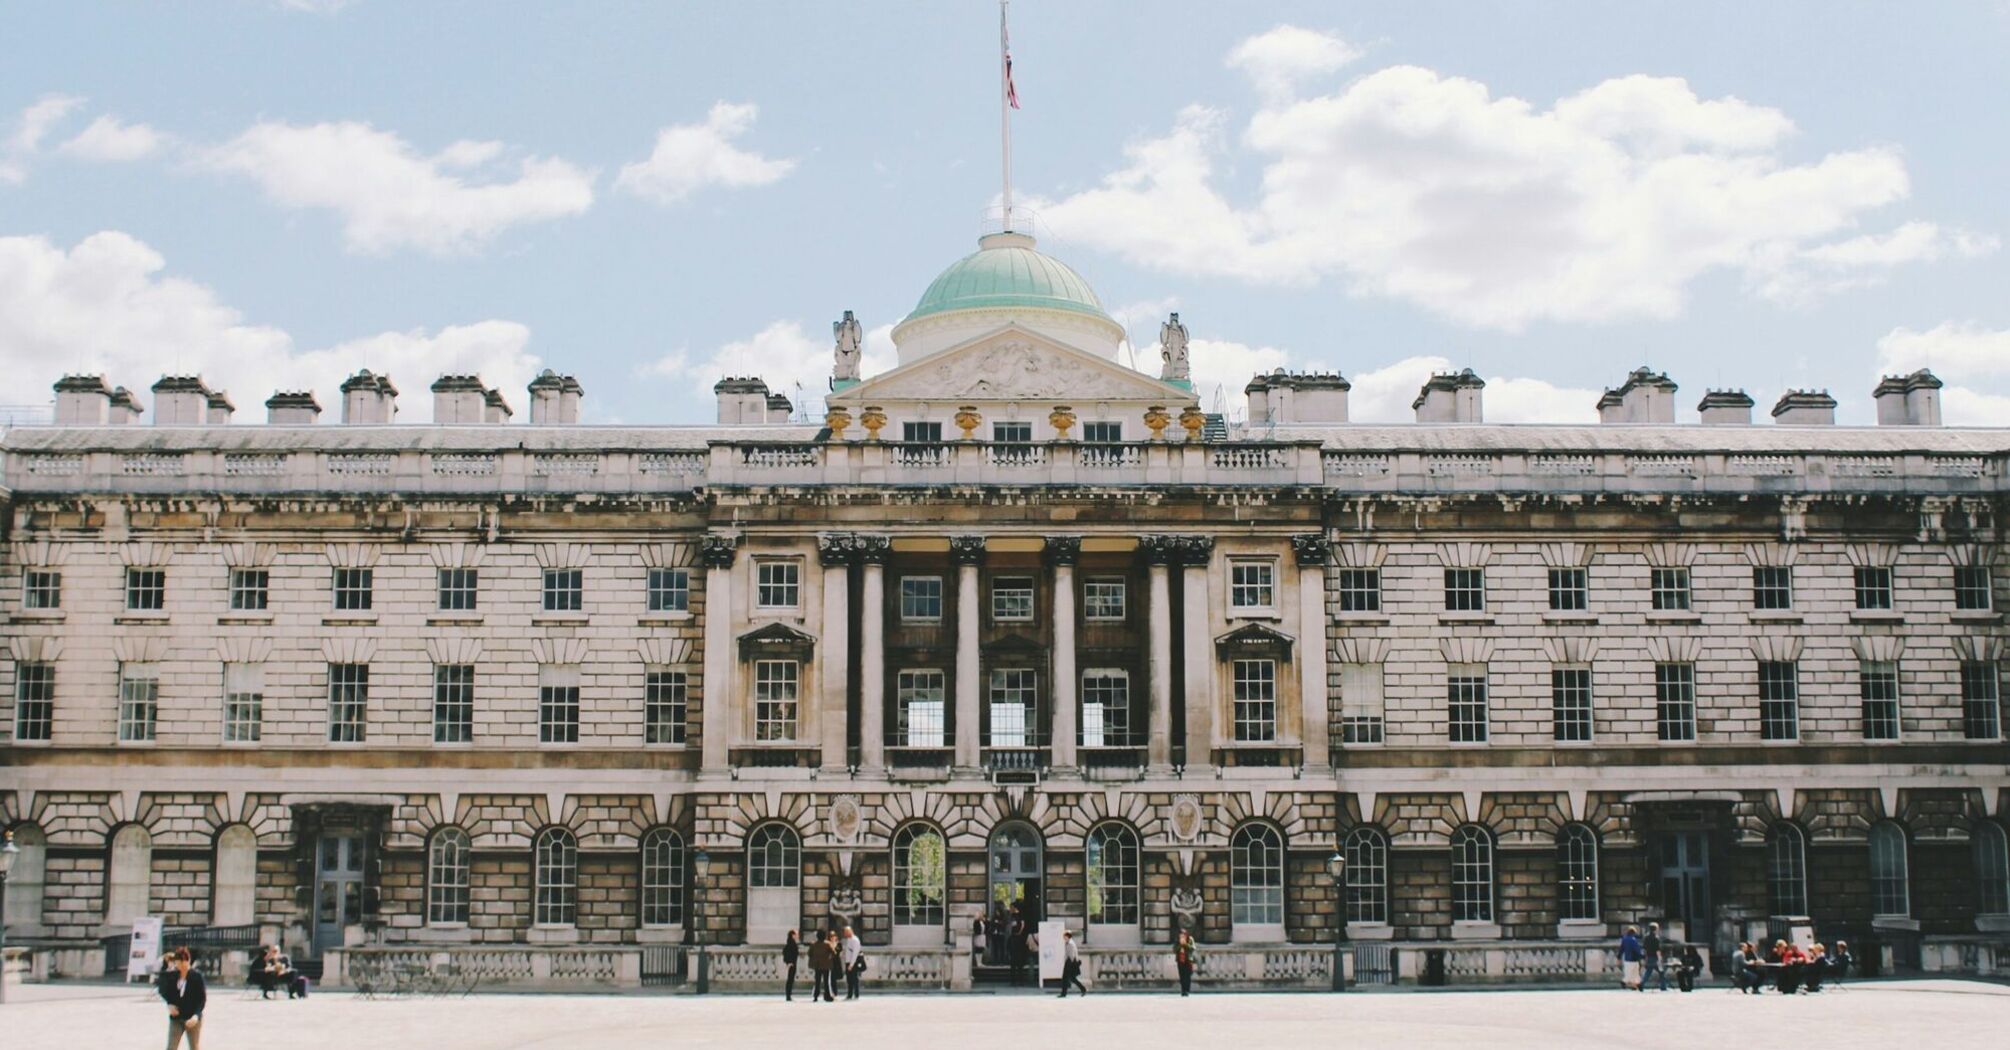
{"type": "Polygon", "coordinates": [[[301,350],[285,330],[251,324],[213,290],[169,276],[167,259],[129,233],[92,233],[70,249],[0,237],[0,366],[18,390],[44,392],[64,372],[103,372],[151,410],[147,388],[163,372],[199,372],[231,392],[243,420],[263,420],[265,398],[281,388],[314,390],[322,418],[336,420],[338,386],[370,368],[404,390],[398,418],[424,422],[436,376],[476,372],[523,418],[523,388],[541,364],[529,342],[523,324],[482,320],[301,350]]]}

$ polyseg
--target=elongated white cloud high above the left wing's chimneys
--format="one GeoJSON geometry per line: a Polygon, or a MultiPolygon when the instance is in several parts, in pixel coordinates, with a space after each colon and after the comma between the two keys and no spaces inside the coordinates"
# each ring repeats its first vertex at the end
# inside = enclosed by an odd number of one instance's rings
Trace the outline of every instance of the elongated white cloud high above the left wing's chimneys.
{"type": "Polygon", "coordinates": [[[454,143],[422,157],[398,135],[354,121],[259,123],[205,163],[249,177],[281,207],[334,211],[348,247],[366,253],[472,251],[509,227],[593,205],[591,171],[557,157],[509,169],[500,153],[496,143],[454,143]]]}

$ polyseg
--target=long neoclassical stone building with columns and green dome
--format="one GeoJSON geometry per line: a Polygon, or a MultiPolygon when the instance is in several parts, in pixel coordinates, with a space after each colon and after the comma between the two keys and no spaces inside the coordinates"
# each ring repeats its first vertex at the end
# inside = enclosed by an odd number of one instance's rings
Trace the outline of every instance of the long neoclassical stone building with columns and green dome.
{"type": "Polygon", "coordinates": [[[850,921],[923,966],[1017,905],[1108,974],[1190,923],[1286,980],[1341,923],[2006,935],[2010,430],[1940,426],[1930,374],[1877,426],[1799,390],[1676,424],[1644,368],[1596,426],[1485,424],[1471,372],[1359,424],[1339,374],[1268,374],[1226,426],[1178,316],[1126,368],[1017,233],[892,370],[858,332],[820,424],[742,378],[716,426],[619,428],[551,372],[529,422],[444,376],[424,426],[372,372],[342,424],[279,392],[251,426],[193,376],[153,424],[64,378],[4,434],[8,939],[728,957],[850,921]]]}

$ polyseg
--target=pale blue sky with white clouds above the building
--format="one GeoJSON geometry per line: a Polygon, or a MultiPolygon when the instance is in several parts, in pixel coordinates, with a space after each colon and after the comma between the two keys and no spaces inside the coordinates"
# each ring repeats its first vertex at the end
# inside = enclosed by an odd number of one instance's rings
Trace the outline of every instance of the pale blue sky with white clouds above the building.
{"type": "MultiPolygon", "coordinates": [[[[842,310],[884,360],[999,191],[989,0],[10,8],[4,402],[201,370],[259,420],[370,366],[400,418],[442,370],[521,412],[551,366],[589,422],[706,422],[728,368],[820,392],[842,310]]],[[[1319,366],[1405,418],[1473,366],[1574,420],[1650,364],[1867,422],[1932,366],[2000,422],[2006,44],[2002,0],[1017,0],[1015,185],[1230,410],[1319,366]]]]}

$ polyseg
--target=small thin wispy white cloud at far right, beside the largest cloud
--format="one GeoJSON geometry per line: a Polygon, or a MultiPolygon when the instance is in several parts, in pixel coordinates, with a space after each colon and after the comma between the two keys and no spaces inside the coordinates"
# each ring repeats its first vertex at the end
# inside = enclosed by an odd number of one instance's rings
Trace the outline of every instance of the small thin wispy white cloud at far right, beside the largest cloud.
{"type": "Polygon", "coordinates": [[[1976,259],[2000,245],[1988,233],[1912,221],[1889,233],[1863,233],[1799,251],[1775,245],[1775,251],[1755,257],[1747,278],[1757,294],[1797,306],[1851,288],[1879,286],[1901,266],[1976,259]]]}

